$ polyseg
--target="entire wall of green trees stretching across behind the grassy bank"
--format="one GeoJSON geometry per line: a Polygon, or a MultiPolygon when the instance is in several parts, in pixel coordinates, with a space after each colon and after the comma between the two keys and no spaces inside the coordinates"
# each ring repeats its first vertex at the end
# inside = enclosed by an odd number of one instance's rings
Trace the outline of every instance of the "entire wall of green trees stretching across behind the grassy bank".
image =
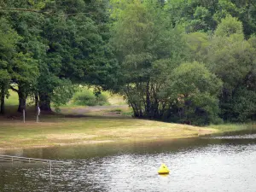
{"type": "Polygon", "coordinates": [[[256,117],[253,0],[0,0],[0,21],[2,113],[9,89],[19,111],[28,96],[50,110],[84,84],[119,92],[137,118],[256,117]]]}

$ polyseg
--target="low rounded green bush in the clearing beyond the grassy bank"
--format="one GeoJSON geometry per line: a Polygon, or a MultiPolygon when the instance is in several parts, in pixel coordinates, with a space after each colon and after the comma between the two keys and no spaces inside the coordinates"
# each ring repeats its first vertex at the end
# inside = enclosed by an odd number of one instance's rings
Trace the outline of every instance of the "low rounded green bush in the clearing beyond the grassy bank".
{"type": "Polygon", "coordinates": [[[102,106],[109,104],[108,97],[106,95],[97,94],[96,96],[92,90],[81,90],[76,92],[73,96],[73,103],[84,106],[102,106]]]}

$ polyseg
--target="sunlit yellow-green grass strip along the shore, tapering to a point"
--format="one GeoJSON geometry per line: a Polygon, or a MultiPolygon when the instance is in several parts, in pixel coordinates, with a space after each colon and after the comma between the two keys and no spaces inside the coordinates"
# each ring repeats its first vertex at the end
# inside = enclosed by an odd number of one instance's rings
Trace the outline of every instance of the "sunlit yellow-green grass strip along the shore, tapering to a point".
{"type": "Polygon", "coordinates": [[[210,129],[125,117],[80,117],[42,115],[40,123],[31,116],[0,119],[0,148],[49,147],[96,142],[151,141],[197,137],[210,129]]]}

